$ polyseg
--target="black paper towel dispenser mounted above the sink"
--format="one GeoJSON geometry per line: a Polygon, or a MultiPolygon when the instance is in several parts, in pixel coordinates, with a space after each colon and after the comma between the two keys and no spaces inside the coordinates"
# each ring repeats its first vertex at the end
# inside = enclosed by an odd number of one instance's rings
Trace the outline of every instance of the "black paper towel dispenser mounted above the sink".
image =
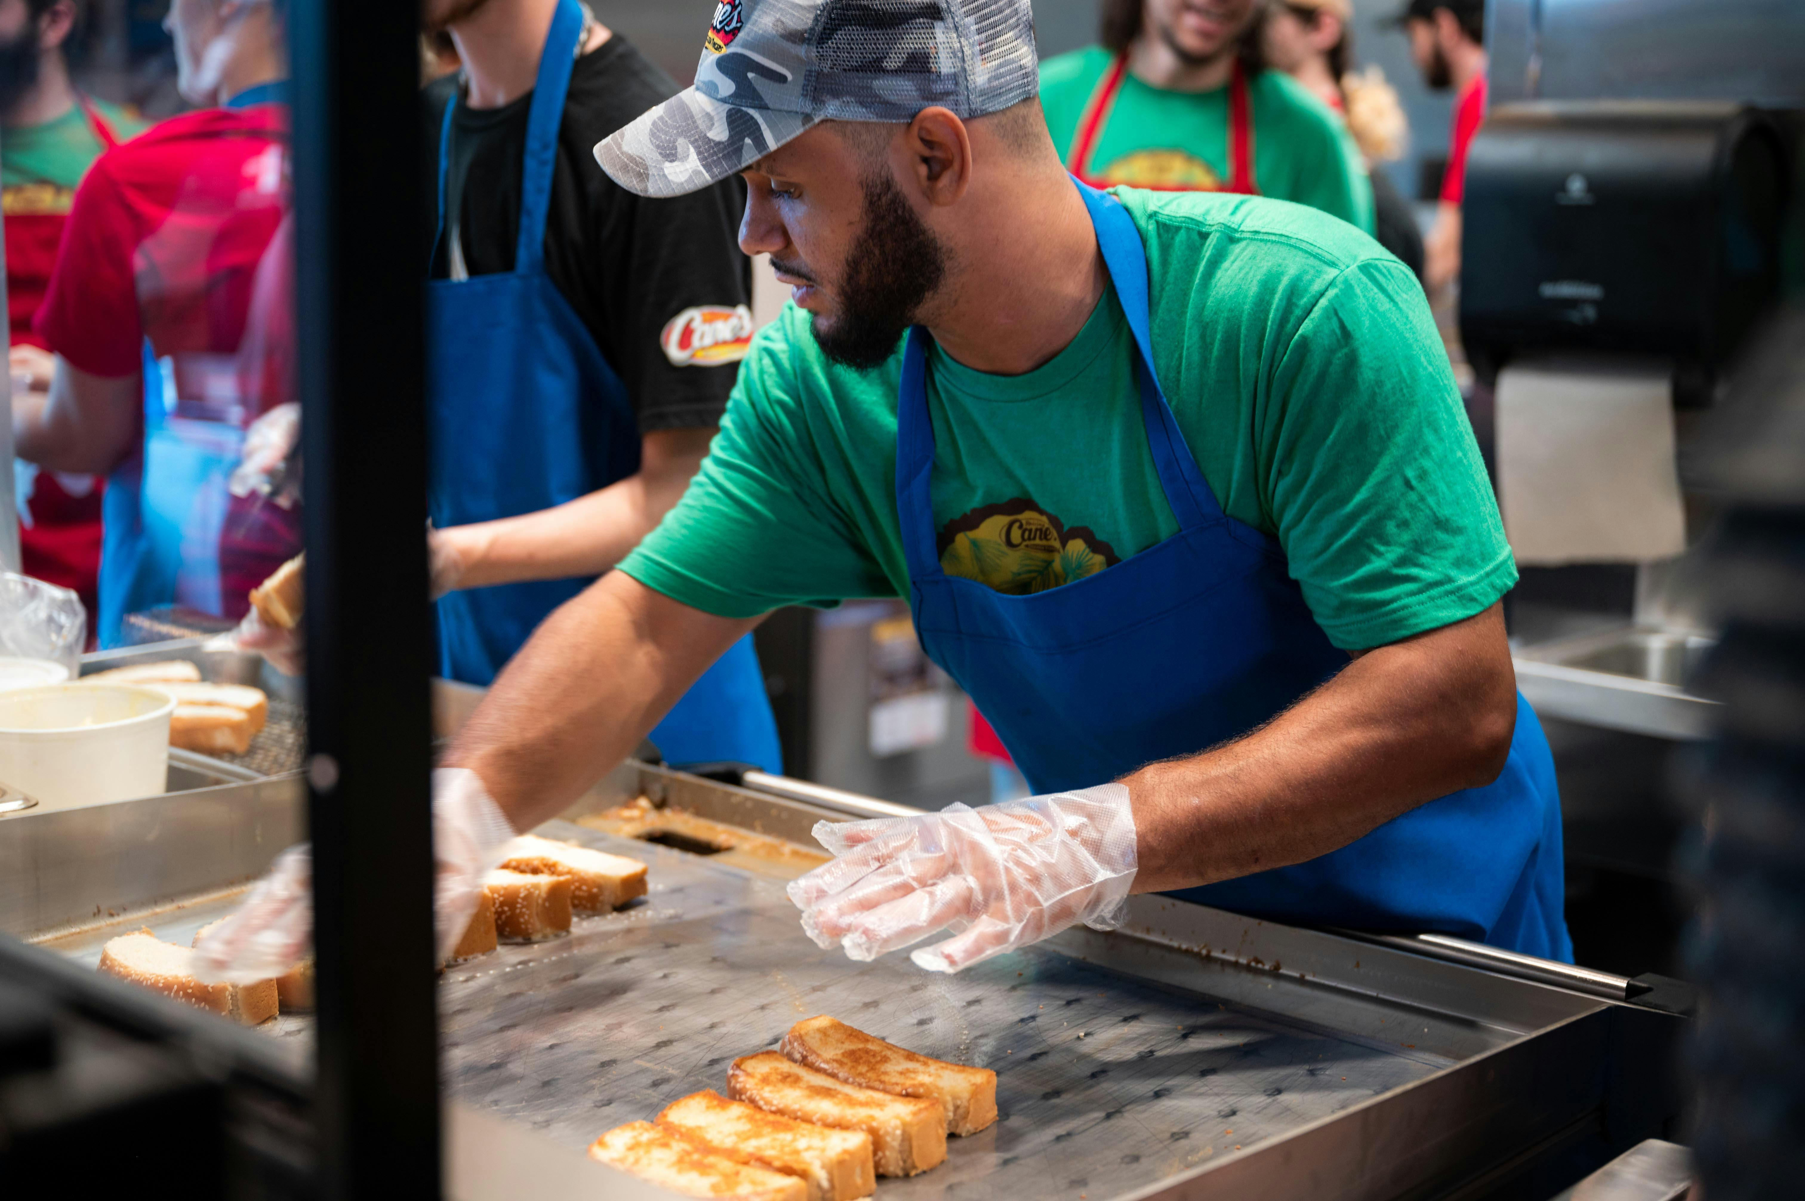
{"type": "Polygon", "coordinates": [[[1744,105],[1495,108],[1467,159],[1467,358],[1659,356],[1679,399],[1704,399],[1778,296],[1787,157],[1783,126],[1744,105]]]}

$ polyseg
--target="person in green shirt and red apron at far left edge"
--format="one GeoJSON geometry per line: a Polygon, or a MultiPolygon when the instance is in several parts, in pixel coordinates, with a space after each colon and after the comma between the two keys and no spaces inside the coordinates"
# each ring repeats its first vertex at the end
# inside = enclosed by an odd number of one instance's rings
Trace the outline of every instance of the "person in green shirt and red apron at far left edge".
{"type": "MultiPolygon", "coordinates": [[[[74,0],[0,0],[0,206],[5,209],[5,294],[13,376],[20,392],[51,386],[52,358],[32,331],[56,267],[56,247],[88,164],[144,128],[116,105],[76,92],[65,47],[74,0]]],[[[25,574],[81,596],[97,628],[101,488],[88,473],[14,464],[25,574]]]]}

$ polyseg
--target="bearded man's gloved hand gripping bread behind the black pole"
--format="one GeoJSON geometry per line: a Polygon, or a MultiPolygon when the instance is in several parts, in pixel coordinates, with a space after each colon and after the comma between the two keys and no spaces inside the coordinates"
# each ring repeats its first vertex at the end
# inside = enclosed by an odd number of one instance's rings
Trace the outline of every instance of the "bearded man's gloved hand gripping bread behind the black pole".
{"type": "MultiPolygon", "coordinates": [[[[433,883],[439,963],[451,957],[477,912],[484,874],[502,858],[514,827],[466,768],[433,771],[433,883]]],[[[195,946],[202,981],[255,984],[282,975],[312,945],[312,851],[307,843],[276,856],[245,903],[195,946]]]]}

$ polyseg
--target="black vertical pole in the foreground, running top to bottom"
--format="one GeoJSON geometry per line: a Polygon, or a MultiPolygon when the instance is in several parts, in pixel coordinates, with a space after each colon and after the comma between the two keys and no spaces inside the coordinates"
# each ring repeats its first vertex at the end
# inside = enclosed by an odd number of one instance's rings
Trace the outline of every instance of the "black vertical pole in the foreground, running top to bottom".
{"type": "Polygon", "coordinates": [[[437,1197],[419,5],[289,0],[323,1197],[437,1197]]]}

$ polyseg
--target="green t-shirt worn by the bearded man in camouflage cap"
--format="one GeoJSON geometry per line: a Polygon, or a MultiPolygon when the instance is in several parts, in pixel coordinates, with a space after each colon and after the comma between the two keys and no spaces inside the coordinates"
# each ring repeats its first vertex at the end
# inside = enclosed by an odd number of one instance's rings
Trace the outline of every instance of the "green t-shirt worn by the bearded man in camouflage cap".
{"type": "MultiPolygon", "coordinates": [[[[1516,582],[1422,285],[1352,226],[1224,193],[1117,190],[1148,256],[1153,363],[1222,507],[1276,535],[1328,638],[1368,648],[1516,582]]],[[[930,358],[937,551],[1005,592],[1177,533],[1114,289],[1025,376],[930,358]]],[[[720,435],[621,569],[686,605],[908,596],[895,504],[901,347],[828,363],[787,305],[753,338],[720,435]]]]}

